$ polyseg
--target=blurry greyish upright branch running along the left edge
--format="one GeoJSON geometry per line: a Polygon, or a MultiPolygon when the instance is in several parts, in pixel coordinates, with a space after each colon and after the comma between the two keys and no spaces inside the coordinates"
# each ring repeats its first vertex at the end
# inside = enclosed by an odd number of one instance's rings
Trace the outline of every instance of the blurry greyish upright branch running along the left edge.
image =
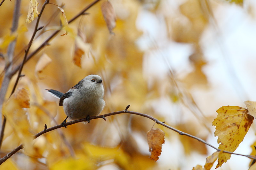
{"type": "MultiPolygon", "coordinates": [[[[4,1],[2,1],[1,4],[3,2],[4,1]]],[[[15,8],[14,8],[14,11],[13,11],[13,18],[12,18],[11,33],[14,33],[18,29],[19,17],[20,17],[20,3],[21,3],[21,0],[17,0],[16,3],[15,3],[15,8]]],[[[0,4],[0,6],[1,6],[1,4],[0,4]]],[[[11,77],[7,76],[7,74],[8,74],[8,72],[10,72],[12,70],[12,60],[13,60],[14,49],[15,49],[15,46],[16,46],[16,41],[17,41],[17,39],[15,38],[9,44],[8,49],[7,49],[6,65],[8,65],[8,67],[6,69],[4,80],[3,80],[1,90],[0,90],[0,122],[2,122],[2,108],[3,108],[5,94],[6,94],[7,88],[9,86],[9,83],[10,83],[10,80],[11,80],[11,77]]],[[[4,119],[3,119],[3,122],[2,122],[2,127],[1,127],[1,134],[0,134],[0,149],[1,149],[1,146],[2,146],[2,143],[3,143],[5,123],[6,123],[6,118],[4,116],[4,119]]]]}

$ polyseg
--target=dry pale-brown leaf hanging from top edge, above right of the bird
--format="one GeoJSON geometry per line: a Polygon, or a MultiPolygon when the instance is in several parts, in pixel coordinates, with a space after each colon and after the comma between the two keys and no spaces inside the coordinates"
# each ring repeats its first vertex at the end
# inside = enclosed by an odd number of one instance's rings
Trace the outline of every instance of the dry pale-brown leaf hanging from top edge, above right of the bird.
{"type": "Polygon", "coordinates": [[[101,4],[101,11],[108,26],[109,33],[113,33],[112,30],[116,27],[116,14],[112,4],[109,1],[103,2],[101,4]]]}

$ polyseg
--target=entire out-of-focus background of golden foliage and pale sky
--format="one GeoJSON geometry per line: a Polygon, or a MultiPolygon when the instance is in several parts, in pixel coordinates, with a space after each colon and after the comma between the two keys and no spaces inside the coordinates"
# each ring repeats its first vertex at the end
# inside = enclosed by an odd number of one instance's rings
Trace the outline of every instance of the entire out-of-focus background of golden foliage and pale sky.
{"type": "MultiPolygon", "coordinates": [[[[25,23],[28,2],[21,2],[17,45],[13,67],[24,56],[36,19],[25,23]]],[[[38,11],[43,0],[38,0],[38,11]]],[[[50,0],[62,5],[67,19],[74,17],[91,0],[50,0]]],[[[109,33],[100,1],[88,14],[69,24],[49,45],[24,66],[18,88],[30,94],[26,120],[8,122],[1,157],[31,134],[60,124],[66,117],[58,99],[44,89],[67,92],[90,74],[103,78],[106,107],[101,114],[124,110],[145,113],[166,124],[206,140],[218,147],[212,126],[222,106],[245,107],[256,101],[256,1],[225,0],[109,0],[116,13],[114,34],[109,33]],[[74,63],[77,47],[84,54],[81,66],[74,63]],[[40,68],[40,69],[39,69],[40,68]],[[17,129],[29,125],[27,131],[17,129]],[[21,135],[20,135],[21,134],[21,135]]],[[[0,7],[0,59],[4,70],[8,36],[12,26],[14,0],[0,7]]],[[[60,29],[61,12],[47,4],[30,52],[55,30],[60,29]]],[[[1,82],[3,80],[1,74],[1,82]]],[[[15,76],[9,85],[8,99],[15,76]]],[[[15,116],[15,115],[11,115],[15,116]]],[[[16,117],[17,118],[17,117],[16,117]]],[[[255,125],[236,153],[254,154],[255,125]]],[[[151,120],[120,114],[77,123],[46,133],[0,166],[0,169],[192,169],[204,165],[214,149],[180,136],[151,120]],[[165,133],[159,160],[150,160],[147,131],[165,133]]],[[[219,169],[248,169],[250,159],[232,155],[219,169]]],[[[214,164],[216,165],[216,163],[214,164]]],[[[214,168],[214,167],[213,167],[214,168]]],[[[212,169],[213,169],[212,168],[212,169]]]]}

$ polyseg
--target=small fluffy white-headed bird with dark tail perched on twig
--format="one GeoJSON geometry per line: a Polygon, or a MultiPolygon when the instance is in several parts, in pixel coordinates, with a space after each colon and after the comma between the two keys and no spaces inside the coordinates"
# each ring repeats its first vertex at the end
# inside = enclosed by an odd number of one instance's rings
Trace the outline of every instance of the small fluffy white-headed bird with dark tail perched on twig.
{"type": "Polygon", "coordinates": [[[71,87],[68,92],[62,93],[57,90],[47,92],[60,99],[59,106],[63,106],[67,118],[61,123],[65,128],[68,117],[71,120],[97,116],[103,110],[105,101],[103,100],[104,88],[102,79],[98,75],[89,75],[71,87]]]}

